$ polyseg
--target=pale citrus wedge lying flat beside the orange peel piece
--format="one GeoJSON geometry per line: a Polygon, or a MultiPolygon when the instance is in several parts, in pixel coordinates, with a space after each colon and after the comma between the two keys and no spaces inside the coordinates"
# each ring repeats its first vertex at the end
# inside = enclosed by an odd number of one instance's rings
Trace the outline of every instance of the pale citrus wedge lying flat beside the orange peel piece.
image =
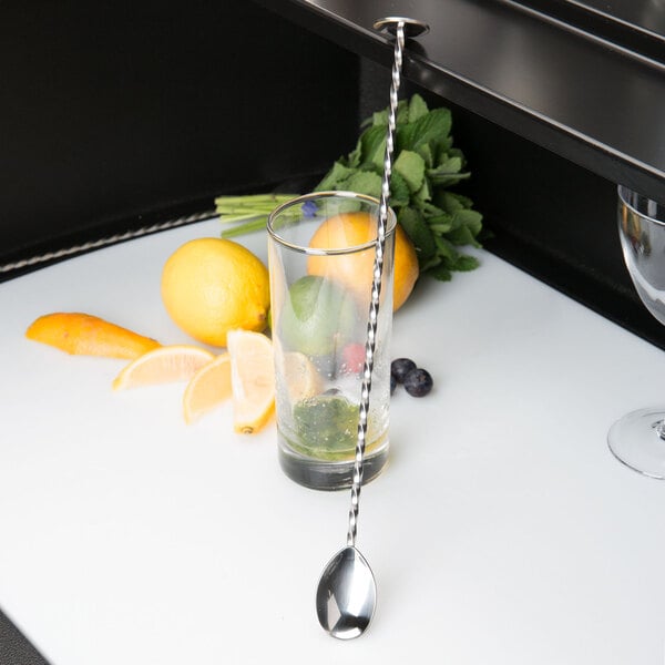
{"type": "Polygon", "coordinates": [[[215,356],[191,345],[171,345],[143,354],[130,362],[114,379],[114,390],[168,383],[191,379],[215,356]]]}

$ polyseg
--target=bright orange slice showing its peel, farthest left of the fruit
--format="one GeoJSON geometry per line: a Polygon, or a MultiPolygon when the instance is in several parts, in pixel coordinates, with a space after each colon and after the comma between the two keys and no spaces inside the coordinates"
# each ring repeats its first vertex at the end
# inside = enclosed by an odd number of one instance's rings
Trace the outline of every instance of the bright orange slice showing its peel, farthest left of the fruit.
{"type": "Polygon", "coordinates": [[[25,337],[78,356],[137,358],[160,342],[90,314],[58,311],[40,316],[25,337]]]}

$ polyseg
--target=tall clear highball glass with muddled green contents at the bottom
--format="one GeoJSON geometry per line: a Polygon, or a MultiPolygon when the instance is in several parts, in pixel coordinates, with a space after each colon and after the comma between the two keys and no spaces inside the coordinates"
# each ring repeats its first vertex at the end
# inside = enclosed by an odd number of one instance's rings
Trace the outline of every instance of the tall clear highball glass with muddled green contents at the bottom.
{"type": "MultiPolygon", "coordinates": [[[[321,192],[268,219],[279,462],[314,489],[351,485],[378,212],[376,198],[321,192]]],[[[395,227],[389,211],[364,482],[388,460],[395,227]]]]}

